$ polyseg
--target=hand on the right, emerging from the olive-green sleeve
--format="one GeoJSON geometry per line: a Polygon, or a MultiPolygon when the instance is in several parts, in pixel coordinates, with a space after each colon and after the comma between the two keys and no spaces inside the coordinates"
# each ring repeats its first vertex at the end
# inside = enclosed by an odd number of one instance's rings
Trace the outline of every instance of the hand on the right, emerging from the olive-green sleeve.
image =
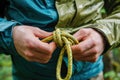
{"type": "Polygon", "coordinates": [[[73,36],[80,42],[72,46],[74,59],[95,62],[104,50],[103,37],[91,28],[80,29],[73,36]]]}

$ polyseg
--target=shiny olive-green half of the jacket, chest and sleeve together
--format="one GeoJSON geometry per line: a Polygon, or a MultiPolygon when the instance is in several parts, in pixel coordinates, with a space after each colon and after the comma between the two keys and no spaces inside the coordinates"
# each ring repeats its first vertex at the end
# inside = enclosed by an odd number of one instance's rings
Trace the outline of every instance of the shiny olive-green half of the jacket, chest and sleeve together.
{"type": "Polygon", "coordinates": [[[56,0],[56,7],[56,28],[75,32],[92,27],[105,37],[107,48],[120,46],[120,0],[56,0]]]}

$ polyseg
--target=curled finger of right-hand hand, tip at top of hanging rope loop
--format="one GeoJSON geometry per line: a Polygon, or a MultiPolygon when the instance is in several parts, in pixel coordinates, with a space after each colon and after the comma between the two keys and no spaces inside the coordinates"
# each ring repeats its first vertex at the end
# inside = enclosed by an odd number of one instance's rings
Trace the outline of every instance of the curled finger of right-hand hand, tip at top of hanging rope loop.
{"type": "Polygon", "coordinates": [[[73,45],[71,48],[74,54],[74,53],[83,53],[93,48],[94,46],[95,46],[95,43],[92,41],[91,38],[89,38],[80,42],[78,45],[73,45]]]}

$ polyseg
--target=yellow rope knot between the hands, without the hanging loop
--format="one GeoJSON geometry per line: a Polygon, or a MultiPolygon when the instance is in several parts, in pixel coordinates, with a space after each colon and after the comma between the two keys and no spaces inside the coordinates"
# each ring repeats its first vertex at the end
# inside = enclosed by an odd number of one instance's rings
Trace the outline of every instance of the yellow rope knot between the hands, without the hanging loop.
{"type": "Polygon", "coordinates": [[[72,35],[65,31],[60,31],[60,29],[56,29],[56,31],[53,32],[53,40],[60,47],[78,43],[78,41],[72,35]]]}

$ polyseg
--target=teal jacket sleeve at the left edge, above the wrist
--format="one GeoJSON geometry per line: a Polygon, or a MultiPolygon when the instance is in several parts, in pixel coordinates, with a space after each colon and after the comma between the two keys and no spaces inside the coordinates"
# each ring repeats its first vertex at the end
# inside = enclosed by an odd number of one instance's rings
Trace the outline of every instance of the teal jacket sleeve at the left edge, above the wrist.
{"type": "Polygon", "coordinates": [[[20,25],[20,23],[0,18],[0,54],[14,53],[15,48],[12,39],[12,28],[16,25],[20,25]]]}

